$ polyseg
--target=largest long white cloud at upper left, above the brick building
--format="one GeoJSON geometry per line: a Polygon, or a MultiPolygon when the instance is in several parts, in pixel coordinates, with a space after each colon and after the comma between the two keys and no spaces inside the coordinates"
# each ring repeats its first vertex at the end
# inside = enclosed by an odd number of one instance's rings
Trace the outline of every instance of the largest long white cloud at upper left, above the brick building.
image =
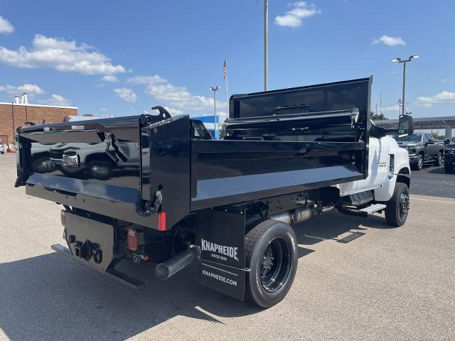
{"type": "Polygon", "coordinates": [[[0,63],[15,67],[53,67],[63,72],[83,75],[114,75],[127,72],[122,65],[113,65],[107,55],[90,45],[77,45],[75,40],[50,38],[37,34],[32,48],[20,46],[9,50],[0,46],[0,63]]]}

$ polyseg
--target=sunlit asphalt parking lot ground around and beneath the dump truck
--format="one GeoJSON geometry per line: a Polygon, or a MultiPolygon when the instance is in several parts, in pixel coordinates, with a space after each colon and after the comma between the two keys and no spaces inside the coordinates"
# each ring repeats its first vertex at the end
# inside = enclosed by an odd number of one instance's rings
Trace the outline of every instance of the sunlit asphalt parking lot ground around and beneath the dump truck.
{"type": "Polygon", "coordinates": [[[131,266],[134,291],[55,254],[61,207],[14,188],[14,163],[0,155],[0,340],[455,340],[455,175],[439,168],[413,173],[403,227],[333,211],[296,227],[294,286],[260,310],[191,268],[131,266]]]}

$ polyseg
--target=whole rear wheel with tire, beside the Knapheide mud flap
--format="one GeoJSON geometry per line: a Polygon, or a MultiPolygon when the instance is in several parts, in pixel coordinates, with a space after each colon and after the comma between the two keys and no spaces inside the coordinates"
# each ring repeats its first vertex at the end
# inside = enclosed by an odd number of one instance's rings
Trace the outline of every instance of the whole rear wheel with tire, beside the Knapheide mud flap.
{"type": "Polygon", "coordinates": [[[245,300],[269,308],[282,301],[297,269],[294,230],[284,222],[265,220],[245,236],[245,300]]]}

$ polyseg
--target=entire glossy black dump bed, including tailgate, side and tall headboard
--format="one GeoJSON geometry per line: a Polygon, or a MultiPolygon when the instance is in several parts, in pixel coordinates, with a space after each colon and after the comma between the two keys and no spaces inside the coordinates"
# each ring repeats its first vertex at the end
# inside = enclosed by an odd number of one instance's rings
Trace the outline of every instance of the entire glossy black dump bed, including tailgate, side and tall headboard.
{"type": "Polygon", "coordinates": [[[370,85],[233,95],[221,141],[166,112],[23,127],[16,185],[154,229],[166,212],[169,229],[196,210],[365,178],[370,85]]]}

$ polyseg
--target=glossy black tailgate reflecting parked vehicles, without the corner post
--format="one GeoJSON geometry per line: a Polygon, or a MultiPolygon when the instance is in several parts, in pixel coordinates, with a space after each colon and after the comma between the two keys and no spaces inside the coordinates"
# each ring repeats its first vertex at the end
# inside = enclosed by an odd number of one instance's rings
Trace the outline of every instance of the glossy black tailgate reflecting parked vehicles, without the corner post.
{"type": "Polygon", "coordinates": [[[16,185],[26,185],[28,195],[146,224],[135,212],[141,200],[139,119],[19,129],[16,185]]]}

